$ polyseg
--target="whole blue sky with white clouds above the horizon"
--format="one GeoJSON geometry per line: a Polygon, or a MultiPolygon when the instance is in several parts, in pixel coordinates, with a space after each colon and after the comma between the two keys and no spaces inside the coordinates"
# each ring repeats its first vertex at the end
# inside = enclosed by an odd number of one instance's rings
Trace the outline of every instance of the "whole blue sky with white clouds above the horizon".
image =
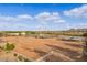
{"type": "Polygon", "coordinates": [[[87,28],[85,3],[0,3],[0,31],[62,31],[87,28]]]}

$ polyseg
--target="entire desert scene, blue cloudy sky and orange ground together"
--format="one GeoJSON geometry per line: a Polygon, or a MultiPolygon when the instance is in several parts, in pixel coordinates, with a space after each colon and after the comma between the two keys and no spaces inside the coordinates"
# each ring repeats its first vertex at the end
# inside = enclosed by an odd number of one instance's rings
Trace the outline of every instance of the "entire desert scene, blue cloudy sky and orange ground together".
{"type": "Polygon", "coordinates": [[[87,4],[0,3],[0,62],[87,62],[87,4]]]}

